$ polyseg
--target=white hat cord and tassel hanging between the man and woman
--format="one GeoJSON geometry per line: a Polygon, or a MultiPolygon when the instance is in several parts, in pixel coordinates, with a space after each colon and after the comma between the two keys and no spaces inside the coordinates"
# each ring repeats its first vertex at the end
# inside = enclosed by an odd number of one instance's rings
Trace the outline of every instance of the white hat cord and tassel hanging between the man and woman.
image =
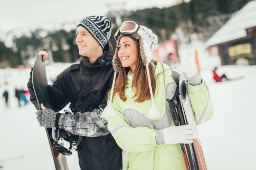
{"type": "Polygon", "coordinates": [[[112,87],[111,87],[111,91],[110,91],[110,100],[109,103],[107,104],[107,106],[105,107],[101,117],[108,119],[109,117],[115,117],[116,116],[116,112],[114,110],[114,108],[112,107],[111,103],[112,103],[112,99],[113,99],[113,91],[114,91],[114,86],[115,86],[115,81],[116,81],[116,71],[114,72],[114,79],[113,79],[113,83],[112,83],[112,87]]]}

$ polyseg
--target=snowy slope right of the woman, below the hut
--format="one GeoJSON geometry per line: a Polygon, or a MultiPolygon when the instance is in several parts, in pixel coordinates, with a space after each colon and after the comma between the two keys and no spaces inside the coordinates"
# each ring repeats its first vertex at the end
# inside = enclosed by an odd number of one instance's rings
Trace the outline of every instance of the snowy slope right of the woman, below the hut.
{"type": "MultiPolygon", "coordinates": [[[[214,116],[198,128],[209,170],[256,170],[256,66],[225,66],[218,72],[245,77],[223,83],[207,81],[214,116]]],[[[207,74],[202,76],[209,79],[207,74]]]]}

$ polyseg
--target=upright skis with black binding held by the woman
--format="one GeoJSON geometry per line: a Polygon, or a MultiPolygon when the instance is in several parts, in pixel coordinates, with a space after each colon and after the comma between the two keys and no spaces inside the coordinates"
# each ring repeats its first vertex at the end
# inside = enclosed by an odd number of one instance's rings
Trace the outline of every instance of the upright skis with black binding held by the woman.
{"type": "MultiPolygon", "coordinates": [[[[187,92],[187,78],[184,73],[172,71],[177,85],[173,99],[169,100],[173,122],[176,126],[196,125],[192,105],[187,92]],[[176,96],[175,96],[176,95],[176,96]]],[[[180,144],[187,170],[207,170],[203,150],[198,138],[192,144],[180,144]]]]}

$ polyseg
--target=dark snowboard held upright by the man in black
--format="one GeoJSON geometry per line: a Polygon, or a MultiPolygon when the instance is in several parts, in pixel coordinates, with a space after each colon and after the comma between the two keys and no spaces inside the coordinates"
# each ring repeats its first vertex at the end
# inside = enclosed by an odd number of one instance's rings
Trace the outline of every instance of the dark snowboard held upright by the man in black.
{"type": "MultiPolygon", "coordinates": [[[[32,85],[34,88],[35,96],[37,99],[38,107],[41,108],[40,104],[53,110],[48,94],[48,82],[46,77],[45,63],[43,62],[43,56],[40,55],[34,63],[32,71],[32,85]]],[[[54,128],[45,128],[46,135],[49,141],[54,165],[56,170],[68,170],[67,161],[65,155],[61,154],[55,147],[53,140],[54,128]]]]}

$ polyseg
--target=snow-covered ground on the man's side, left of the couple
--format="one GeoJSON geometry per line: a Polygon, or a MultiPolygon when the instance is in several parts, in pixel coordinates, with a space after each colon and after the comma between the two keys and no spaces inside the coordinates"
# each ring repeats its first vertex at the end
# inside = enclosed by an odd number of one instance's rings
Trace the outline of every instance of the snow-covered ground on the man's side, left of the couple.
{"type": "MultiPolygon", "coordinates": [[[[47,66],[47,77],[55,78],[71,64],[47,66]]],[[[30,68],[0,69],[0,170],[55,170],[45,129],[35,119],[32,103],[18,107],[15,87],[26,88],[30,68]],[[3,85],[8,81],[8,85],[3,85]],[[9,91],[10,107],[6,108],[2,93],[9,91]]],[[[48,80],[50,82],[50,80],[48,80]]],[[[79,170],[77,153],[67,157],[70,170],[79,170]]]]}

